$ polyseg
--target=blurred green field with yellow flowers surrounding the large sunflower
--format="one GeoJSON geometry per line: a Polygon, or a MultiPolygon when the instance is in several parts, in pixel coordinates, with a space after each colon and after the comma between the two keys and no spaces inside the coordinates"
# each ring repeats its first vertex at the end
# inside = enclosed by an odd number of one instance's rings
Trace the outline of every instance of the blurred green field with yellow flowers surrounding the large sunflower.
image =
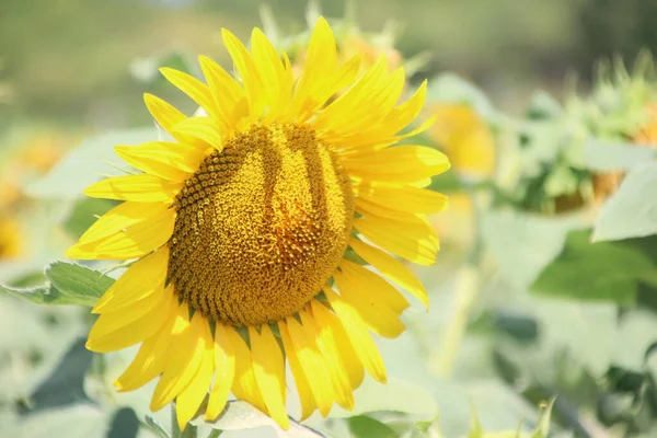
{"type": "Polygon", "coordinates": [[[112,146],[152,138],[142,94],[196,110],[159,67],[198,74],[204,54],[229,69],[221,27],[253,26],[300,62],[320,12],[345,58],[384,55],[410,90],[429,79],[438,120],[414,142],[452,170],[433,184],[451,197],[431,219],[438,263],[415,269],[430,311],[381,342],[389,389],[366,383],[355,413],[308,425],[657,437],[654,0],[2,0],[0,436],[169,436],[147,393],[112,392],[131,351],[92,356],[88,309],[35,304],[66,295],[64,265],[44,267],[112,207],[80,194],[118,162],[112,146]]]}

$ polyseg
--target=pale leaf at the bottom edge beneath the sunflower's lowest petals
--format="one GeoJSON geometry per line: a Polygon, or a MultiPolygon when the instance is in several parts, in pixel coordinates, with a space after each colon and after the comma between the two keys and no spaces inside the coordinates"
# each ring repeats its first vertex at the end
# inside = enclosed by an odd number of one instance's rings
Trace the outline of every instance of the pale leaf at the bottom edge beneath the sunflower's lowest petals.
{"type": "Polygon", "coordinates": [[[269,426],[283,437],[290,438],[321,438],[322,434],[303,426],[290,418],[290,428],[283,430],[276,422],[263,414],[250,403],[243,401],[230,401],[226,408],[214,422],[204,422],[201,418],[196,418],[189,422],[194,426],[207,425],[219,430],[244,430],[256,427],[269,426]],[[284,435],[285,434],[285,435],[284,435]]]}

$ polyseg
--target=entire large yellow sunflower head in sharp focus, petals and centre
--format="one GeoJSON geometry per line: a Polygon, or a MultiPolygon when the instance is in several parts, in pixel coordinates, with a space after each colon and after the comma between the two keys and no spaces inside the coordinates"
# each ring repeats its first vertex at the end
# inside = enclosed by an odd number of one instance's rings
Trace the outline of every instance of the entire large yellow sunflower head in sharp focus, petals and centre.
{"type": "Polygon", "coordinates": [[[206,396],[205,418],[216,418],[232,391],[287,428],[286,362],[302,418],[333,403],[351,408],[365,370],[385,381],[369,332],[399,336],[408,302],[382,276],[428,303],[391,254],[435,262],[426,214],[447,199],[423,187],[449,163],[431,148],[391,148],[430,125],[400,134],[426,83],[397,105],[403,69],[389,72],[381,58],[357,79],[358,59],[338,66],[324,19],[298,80],[258,28],[251,51],[222,37],[241,81],[206,57],[207,84],[162,69],[207,115],[186,117],[147,94],[174,141],[116,147],[143,173],[84,191],[124,203],[67,255],[135,261],[93,308],[87,343],[99,353],[141,343],[119,391],[159,377],[150,408],[175,400],[181,428],[206,396]]]}

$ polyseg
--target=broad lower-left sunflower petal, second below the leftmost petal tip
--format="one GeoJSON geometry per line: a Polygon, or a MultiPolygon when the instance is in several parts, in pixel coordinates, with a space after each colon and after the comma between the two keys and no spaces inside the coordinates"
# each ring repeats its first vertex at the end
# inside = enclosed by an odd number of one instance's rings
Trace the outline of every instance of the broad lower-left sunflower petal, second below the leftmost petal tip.
{"type": "Polygon", "coordinates": [[[176,300],[160,289],[127,309],[103,313],[91,327],[87,348],[117,351],[149,338],[166,322],[176,300]]]}

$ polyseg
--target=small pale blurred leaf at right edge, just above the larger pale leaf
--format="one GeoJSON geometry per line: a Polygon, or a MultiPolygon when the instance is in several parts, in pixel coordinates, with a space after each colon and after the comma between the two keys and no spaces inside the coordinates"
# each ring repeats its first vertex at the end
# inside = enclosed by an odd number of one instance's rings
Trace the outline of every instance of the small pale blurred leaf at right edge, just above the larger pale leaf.
{"type": "Polygon", "coordinates": [[[629,142],[612,142],[590,137],[581,150],[581,165],[597,172],[625,171],[653,161],[655,149],[629,142]]]}

